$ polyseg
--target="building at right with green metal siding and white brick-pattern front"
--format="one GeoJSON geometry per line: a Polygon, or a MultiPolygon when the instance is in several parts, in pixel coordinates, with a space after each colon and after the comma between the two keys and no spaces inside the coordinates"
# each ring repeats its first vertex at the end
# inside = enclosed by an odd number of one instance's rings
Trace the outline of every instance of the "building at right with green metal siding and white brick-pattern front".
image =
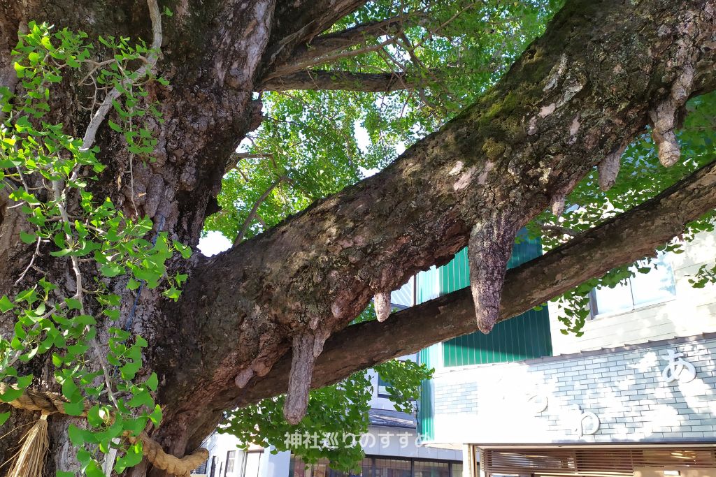
{"type": "MultiPolygon", "coordinates": [[[[516,245],[512,265],[537,249],[516,245]]],[[[716,288],[689,282],[716,235],[685,250],[594,290],[579,338],[550,306],[420,353],[427,445],[464,448],[468,477],[716,477],[716,288]]],[[[460,254],[431,273],[438,293],[468,285],[460,254]]]]}

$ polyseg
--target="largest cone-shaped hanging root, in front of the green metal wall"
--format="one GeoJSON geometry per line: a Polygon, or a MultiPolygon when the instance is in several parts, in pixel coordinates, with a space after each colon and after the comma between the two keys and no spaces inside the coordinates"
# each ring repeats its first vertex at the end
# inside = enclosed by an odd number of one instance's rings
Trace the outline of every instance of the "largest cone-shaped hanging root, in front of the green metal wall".
{"type": "Polygon", "coordinates": [[[485,334],[500,316],[500,296],[516,235],[517,229],[506,220],[476,224],[470,233],[470,290],[478,328],[485,334]]]}

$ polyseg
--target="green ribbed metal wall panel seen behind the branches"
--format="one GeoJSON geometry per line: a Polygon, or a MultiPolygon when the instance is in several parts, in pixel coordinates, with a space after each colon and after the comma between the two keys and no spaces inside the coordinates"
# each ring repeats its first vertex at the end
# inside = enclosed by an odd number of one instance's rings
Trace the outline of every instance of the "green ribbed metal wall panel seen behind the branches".
{"type": "MultiPolygon", "coordinates": [[[[528,240],[522,235],[513,248],[508,268],[521,265],[541,253],[538,240],[528,240]]],[[[440,295],[470,285],[467,249],[460,250],[448,265],[440,267],[438,275],[440,295]]],[[[442,343],[442,354],[444,366],[504,363],[551,355],[547,308],[530,310],[498,323],[488,335],[477,332],[446,341],[442,343]]]]}

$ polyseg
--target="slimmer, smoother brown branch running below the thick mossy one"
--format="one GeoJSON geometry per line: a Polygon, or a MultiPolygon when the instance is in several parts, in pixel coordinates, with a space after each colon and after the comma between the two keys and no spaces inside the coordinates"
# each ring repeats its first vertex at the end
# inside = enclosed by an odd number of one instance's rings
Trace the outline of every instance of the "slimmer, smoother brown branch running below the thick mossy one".
{"type": "MultiPolygon", "coordinates": [[[[684,231],[688,222],[716,208],[716,162],[657,197],[578,235],[545,255],[508,270],[500,321],[520,315],[592,277],[645,257],[684,231]]],[[[349,326],[333,335],[316,361],[312,386],[346,378],[392,358],[415,353],[478,330],[473,299],[463,288],[377,321],[349,326]]],[[[233,393],[231,405],[247,405],[286,391],[291,356],[264,378],[233,393]]]]}

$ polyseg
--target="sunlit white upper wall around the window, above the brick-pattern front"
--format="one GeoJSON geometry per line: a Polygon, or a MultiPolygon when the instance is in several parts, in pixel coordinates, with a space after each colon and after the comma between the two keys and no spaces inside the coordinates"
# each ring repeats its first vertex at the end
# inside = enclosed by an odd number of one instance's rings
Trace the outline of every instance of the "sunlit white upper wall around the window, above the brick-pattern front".
{"type": "Polygon", "coordinates": [[[674,299],[623,313],[598,315],[586,321],[584,335],[579,338],[560,333],[563,328],[558,321],[560,310],[555,303],[549,303],[553,353],[577,353],[715,332],[716,286],[694,288],[689,278],[701,265],[714,263],[716,232],[700,233],[694,241],[684,245],[684,250],[682,254],[667,257],[674,270],[674,299]]]}

